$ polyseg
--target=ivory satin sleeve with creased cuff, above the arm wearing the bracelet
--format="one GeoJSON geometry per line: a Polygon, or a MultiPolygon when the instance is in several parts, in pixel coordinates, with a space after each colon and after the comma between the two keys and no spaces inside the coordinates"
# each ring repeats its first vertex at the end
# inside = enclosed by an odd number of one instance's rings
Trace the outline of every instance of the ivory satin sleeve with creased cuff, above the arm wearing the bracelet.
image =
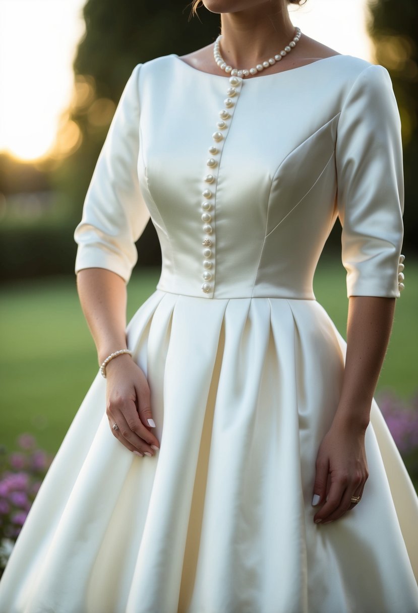
{"type": "Polygon", "coordinates": [[[138,258],[135,241],[150,219],[137,169],[141,66],[134,67],[121,94],[74,232],[76,273],[82,268],[107,268],[126,283],[138,258]]]}

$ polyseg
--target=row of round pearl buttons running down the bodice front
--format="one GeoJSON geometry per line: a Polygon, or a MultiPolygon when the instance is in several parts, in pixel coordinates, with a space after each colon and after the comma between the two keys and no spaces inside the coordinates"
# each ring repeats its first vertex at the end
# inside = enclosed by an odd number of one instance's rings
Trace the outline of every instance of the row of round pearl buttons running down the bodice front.
{"type": "MultiPolygon", "coordinates": [[[[224,100],[224,105],[226,106],[226,109],[222,109],[219,112],[219,116],[221,119],[216,124],[218,130],[212,134],[212,139],[215,140],[215,143],[218,143],[218,145],[221,143],[222,140],[224,140],[224,134],[222,134],[221,130],[226,130],[226,128],[228,127],[227,120],[230,119],[231,113],[227,109],[232,109],[232,107],[234,106],[234,100],[232,100],[232,98],[238,93],[237,86],[240,85],[241,79],[238,77],[230,77],[229,83],[231,86],[227,89],[227,98],[224,100]]],[[[219,164],[213,156],[216,156],[220,153],[219,147],[216,147],[216,145],[212,145],[209,148],[209,153],[211,157],[208,159],[206,164],[210,169],[215,169],[219,166],[219,164]]],[[[206,175],[203,180],[205,181],[205,183],[207,183],[207,185],[216,185],[216,177],[213,174],[206,175]]],[[[206,188],[203,190],[202,196],[205,199],[202,202],[203,232],[208,235],[212,234],[213,232],[213,227],[210,224],[213,219],[213,215],[209,211],[213,209],[212,202],[214,193],[210,188],[206,188]]],[[[212,285],[208,282],[213,279],[214,263],[209,259],[211,256],[213,256],[212,249],[210,249],[210,247],[213,246],[213,242],[210,240],[210,238],[205,237],[203,239],[202,245],[204,247],[203,256],[205,257],[205,259],[203,260],[203,268],[205,270],[203,270],[202,275],[205,283],[202,284],[202,291],[205,292],[205,294],[208,294],[208,292],[210,292],[212,289],[212,285]]]]}

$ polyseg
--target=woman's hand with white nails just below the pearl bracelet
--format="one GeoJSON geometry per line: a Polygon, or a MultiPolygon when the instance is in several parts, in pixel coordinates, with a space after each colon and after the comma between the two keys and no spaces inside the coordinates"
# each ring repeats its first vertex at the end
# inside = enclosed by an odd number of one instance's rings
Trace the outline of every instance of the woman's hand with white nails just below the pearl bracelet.
{"type": "Polygon", "coordinates": [[[159,441],[150,431],[154,427],[150,387],[143,370],[129,354],[123,354],[107,364],[106,381],[106,413],[112,434],[134,454],[154,455],[159,441]]]}

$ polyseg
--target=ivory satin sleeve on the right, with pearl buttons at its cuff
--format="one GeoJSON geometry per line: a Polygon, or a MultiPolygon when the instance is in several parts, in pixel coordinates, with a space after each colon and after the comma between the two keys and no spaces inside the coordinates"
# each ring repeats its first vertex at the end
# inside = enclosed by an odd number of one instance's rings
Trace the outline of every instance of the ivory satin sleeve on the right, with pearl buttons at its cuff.
{"type": "Polygon", "coordinates": [[[371,64],[338,118],[338,216],[347,295],[398,297],[403,240],[401,121],[389,72],[371,64]]]}

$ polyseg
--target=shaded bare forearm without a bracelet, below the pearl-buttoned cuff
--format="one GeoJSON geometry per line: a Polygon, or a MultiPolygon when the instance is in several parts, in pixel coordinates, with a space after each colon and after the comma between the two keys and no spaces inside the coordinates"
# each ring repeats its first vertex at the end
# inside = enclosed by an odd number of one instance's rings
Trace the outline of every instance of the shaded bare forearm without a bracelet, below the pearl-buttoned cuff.
{"type": "Polygon", "coordinates": [[[392,330],[395,300],[373,296],[349,299],[346,367],[335,422],[367,428],[392,330]]]}

